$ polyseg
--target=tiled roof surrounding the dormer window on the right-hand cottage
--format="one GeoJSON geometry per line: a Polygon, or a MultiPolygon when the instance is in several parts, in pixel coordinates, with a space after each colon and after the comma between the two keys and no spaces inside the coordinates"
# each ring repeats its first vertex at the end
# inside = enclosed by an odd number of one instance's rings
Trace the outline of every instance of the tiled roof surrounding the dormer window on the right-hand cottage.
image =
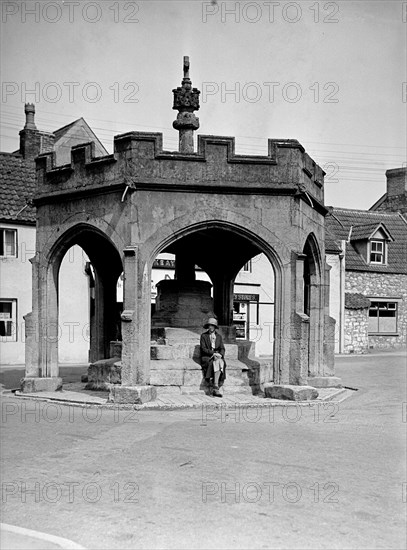
{"type": "Polygon", "coordinates": [[[351,240],[346,245],[345,269],[346,271],[407,274],[407,222],[401,214],[380,210],[372,212],[330,207],[325,223],[327,230],[335,235],[336,241],[347,240],[351,226],[375,228],[382,223],[394,239],[387,243],[387,265],[367,264],[356,251],[351,240]]]}

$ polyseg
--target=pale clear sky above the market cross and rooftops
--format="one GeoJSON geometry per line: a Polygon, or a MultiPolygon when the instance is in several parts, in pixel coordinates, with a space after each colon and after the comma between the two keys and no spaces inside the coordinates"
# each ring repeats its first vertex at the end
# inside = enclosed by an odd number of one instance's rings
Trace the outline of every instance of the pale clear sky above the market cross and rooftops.
{"type": "Polygon", "coordinates": [[[201,91],[198,133],[239,154],[297,139],[326,171],[325,204],[368,209],[406,166],[405,1],[2,1],[1,151],[24,103],[39,130],[84,117],[113,136],[161,132],[177,150],[183,56],[201,91]]]}

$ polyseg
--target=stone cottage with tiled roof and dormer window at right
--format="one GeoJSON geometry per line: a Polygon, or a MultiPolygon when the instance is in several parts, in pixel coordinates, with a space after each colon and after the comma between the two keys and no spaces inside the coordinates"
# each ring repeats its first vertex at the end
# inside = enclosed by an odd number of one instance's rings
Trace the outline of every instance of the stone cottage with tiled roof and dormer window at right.
{"type": "Polygon", "coordinates": [[[386,172],[387,192],[370,210],[330,208],[326,217],[337,352],[406,345],[406,172],[386,172]]]}

